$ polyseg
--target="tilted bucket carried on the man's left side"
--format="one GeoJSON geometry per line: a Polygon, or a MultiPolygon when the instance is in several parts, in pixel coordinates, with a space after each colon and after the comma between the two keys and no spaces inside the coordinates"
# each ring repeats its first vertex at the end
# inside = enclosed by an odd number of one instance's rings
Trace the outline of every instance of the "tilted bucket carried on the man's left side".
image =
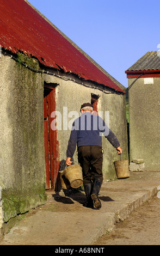
{"type": "Polygon", "coordinates": [[[82,167],[79,164],[73,164],[64,169],[63,174],[70,182],[72,188],[81,187],[83,184],[82,167]]]}

